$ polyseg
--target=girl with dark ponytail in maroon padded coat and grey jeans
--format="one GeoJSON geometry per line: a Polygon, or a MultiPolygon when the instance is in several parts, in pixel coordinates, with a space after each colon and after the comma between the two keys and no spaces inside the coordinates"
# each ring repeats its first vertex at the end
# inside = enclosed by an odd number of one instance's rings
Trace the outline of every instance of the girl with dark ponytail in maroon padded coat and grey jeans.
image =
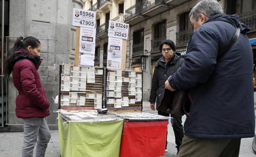
{"type": "Polygon", "coordinates": [[[41,64],[41,43],[34,37],[19,37],[10,49],[6,59],[6,74],[12,72],[16,97],[16,116],[24,121],[24,141],[22,157],[33,157],[37,144],[36,157],[44,157],[50,141],[50,130],[45,117],[50,115],[40,76],[37,71],[41,64]]]}

